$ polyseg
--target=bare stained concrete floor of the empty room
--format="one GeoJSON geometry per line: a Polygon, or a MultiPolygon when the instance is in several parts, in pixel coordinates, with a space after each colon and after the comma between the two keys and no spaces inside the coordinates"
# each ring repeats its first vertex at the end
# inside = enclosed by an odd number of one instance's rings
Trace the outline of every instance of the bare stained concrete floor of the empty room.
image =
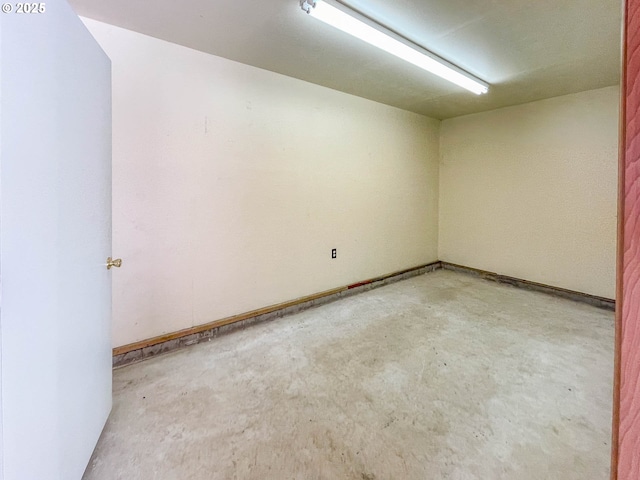
{"type": "Polygon", "coordinates": [[[437,271],[114,372],[85,480],[606,479],[613,313],[437,271]]]}

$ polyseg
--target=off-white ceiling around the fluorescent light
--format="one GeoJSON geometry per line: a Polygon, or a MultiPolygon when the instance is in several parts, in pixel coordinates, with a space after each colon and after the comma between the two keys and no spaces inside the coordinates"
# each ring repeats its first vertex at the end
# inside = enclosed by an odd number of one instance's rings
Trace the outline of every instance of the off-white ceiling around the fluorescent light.
{"type": "Polygon", "coordinates": [[[435,118],[615,85],[621,0],[344,0],[491,84],[476,96],[298,0],[70,0],[80,15],[435,118]]]}

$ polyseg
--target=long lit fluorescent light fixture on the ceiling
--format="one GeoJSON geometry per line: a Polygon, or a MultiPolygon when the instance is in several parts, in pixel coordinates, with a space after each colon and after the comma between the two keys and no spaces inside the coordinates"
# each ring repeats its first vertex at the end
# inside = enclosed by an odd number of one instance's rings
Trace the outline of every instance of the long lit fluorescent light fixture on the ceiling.
{"type": "Polygon", "coordinates": [[[335,6],[333,6],[324,0],[300,0],[300,6],[313,18],[317,18],[338,30],[342,30],[462,88],[466,88],[476,95],[487,93],[489,90],[488,83],[473,77],[471,74],[417,45],[410,46],[409,42],[399,35],[340,3],[336,2],[335,6]]]}

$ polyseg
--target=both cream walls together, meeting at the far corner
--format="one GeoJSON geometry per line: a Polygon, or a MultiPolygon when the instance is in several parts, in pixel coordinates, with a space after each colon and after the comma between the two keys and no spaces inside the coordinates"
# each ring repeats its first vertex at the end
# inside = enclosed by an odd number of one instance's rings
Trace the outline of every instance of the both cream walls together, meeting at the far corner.
{"type": "Polygon", "coordinates": [[[115,346],[438,258],[613,298],[617,88],[440,124],[85,23],[113,62],[115,346]]]}

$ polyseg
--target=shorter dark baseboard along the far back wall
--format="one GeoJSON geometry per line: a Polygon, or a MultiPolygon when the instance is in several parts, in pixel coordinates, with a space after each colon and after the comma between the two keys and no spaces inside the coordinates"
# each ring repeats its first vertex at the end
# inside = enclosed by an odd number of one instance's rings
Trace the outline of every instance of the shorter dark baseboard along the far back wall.
{"type": "Polygon", "coordinates": [[[440,262],[441,267],[445,270],[452,270],[456,272],[462,272],[481,277],[486,280],[491,280],[497,283],[505,283],[513,285],[514,287],[523,288],[525,290],[532,290],[535,292],[547,293],[556,297],[567,298],[576,302],[587,303],[594,307],[604,308],[606,310],[614,311],[616,308],[615,300],[609,298],[598,297],[595,295],[589,295],[588,293],[576,292],[574,290],[567,290],[565,288],[552,287],[550,285],[544,285],[542,283],[530,282],[529,280],[523,280],[521,278],[509,277],[507,275],[500,275],[499,273],[487,272],[485,270],[479,270],[477,268],[465,267],[462,265],[456,265],[455,263],[440,262]]]}

